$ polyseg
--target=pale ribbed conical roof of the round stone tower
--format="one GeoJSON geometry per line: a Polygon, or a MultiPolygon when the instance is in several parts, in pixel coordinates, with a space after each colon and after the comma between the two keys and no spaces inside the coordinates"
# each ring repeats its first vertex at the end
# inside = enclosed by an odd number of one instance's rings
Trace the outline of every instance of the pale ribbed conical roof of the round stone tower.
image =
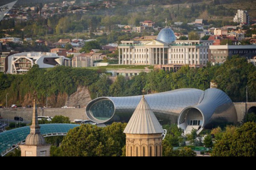
{"type": "Polygon", "coordinates": [[[124,133],[126,134],[159,134],[164,133],[157,117],[151,111],[144,96],[134,111],[124,133]]]}

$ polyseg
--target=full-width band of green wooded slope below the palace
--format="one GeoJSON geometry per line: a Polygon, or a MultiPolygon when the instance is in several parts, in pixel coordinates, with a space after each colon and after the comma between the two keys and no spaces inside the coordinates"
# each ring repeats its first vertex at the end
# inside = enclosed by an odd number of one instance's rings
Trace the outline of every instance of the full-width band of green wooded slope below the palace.
{"type": "Polygon", "coordinates": [[[7,93],[9,105],[32,105],[33,94],[36,92],[40,106],[46,105],[48,94],[49,106],[62,107],[67,97],[75,93],[79,86],[87,87],[91,98],[95,99],[96,93],[99,96],[116,97],[141,95],[143,88],[149,94],[179,88],[207,90],[210,82],[215,82],[233,102],[246,101],[248,86],[249,102],[256,101],[256,68],[239,56],[228,59],[221,66],[208,65],[200,69],[184,66],[176,73],[156,70],[148,74],[141,73],[130,80],[118,76],[114,83],[111,83],[107,75],[99,73],[85,68],[59,66],[40,69],[34,66],[26,75],[0,74],[0,104],[5,105],[7,93]]]}

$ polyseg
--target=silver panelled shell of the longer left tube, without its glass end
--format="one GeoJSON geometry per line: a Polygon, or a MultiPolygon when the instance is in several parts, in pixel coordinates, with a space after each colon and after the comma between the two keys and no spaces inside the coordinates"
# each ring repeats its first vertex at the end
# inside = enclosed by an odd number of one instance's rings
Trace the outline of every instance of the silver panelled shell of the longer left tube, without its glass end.
{"type": "MultiPolygon", "coordinates": [[[[145,95],[145,99],[148,102],[151,110],[154,113],[172,114],[178,116],[184,108],[189,106],[198,105],[198,101],[203,91],[192,88],[179,89],[174,91],[168,91],[158,94],[145,95]]],[[[118,113],[133,113],[140,103],[142,96],[130,96],[130,97],[102,97],[93,100],[87,105],[86,113],[87,117],[94,122],[108,122],[98,121],[90,114],[90,106],[93,103],[101,99],[109,99],[115,106],[115,114],[118,113]]]]}

